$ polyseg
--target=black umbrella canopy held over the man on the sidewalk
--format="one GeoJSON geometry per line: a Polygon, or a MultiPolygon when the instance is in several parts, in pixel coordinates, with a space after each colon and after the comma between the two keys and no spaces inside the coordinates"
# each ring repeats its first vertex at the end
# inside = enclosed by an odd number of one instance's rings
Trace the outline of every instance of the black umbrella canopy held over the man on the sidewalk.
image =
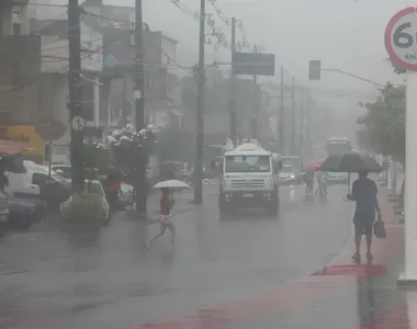
{"type": "Polygon", "coordinates": [[[329,172],[381,172],[382,167],[367,154],[349,151],[328,157],[319,170],[329,172]]]}

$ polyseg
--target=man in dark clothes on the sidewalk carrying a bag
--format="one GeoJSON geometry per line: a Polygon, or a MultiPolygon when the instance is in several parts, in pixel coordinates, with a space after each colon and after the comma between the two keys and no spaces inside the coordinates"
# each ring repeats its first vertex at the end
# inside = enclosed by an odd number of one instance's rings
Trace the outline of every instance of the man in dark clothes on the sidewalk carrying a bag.
{"type": "Polygon", "coordinates": [[[377,188],[373,180],[368,178],[368,172],[359,172],[359,179],[352,184],[352,193],[348,194],[348,200],[354,201],[356,209],[353,215],[356,252],[352,260],[360,262],[360,248],[362,235],[367,238],[367,258],[372,261],[371,245],[373,223],[375,222],[375,209],[381,218],[381,209],[377,203],[377,188]]]}

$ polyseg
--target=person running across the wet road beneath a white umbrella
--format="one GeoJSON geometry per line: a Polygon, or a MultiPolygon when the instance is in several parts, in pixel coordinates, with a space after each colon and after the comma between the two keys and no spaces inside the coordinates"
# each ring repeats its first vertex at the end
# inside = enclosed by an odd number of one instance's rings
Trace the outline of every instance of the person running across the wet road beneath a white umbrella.
{"type": "Polygon", "coordinates": [[[159,201],[159,216],[158,216],[158,222],[159,222],[159,232],[151,237],[149,240],[145,242],[145,249],[149,249],[149,245],[151,241],[155,239],[161,237],[167,228],[171,231],[171,247],[172,249],[176,248],[176,227],[173,226],[171,222],[171,208],[174,204],[174,201],[169,197],[170,195],[170,190],[168,188],[161,189],[162,195],[159,201]]]}

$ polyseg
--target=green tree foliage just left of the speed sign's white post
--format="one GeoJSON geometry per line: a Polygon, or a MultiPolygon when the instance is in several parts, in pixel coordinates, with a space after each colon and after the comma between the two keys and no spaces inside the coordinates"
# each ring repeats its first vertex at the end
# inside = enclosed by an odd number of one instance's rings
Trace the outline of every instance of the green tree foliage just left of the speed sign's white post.
{"type": "Polygon", "coordinates": [[[386,83],[373,103],[361,104],[368,111],[359,117],[358,140],[362,148],[405,159],[405,86],[386,83]]]}

